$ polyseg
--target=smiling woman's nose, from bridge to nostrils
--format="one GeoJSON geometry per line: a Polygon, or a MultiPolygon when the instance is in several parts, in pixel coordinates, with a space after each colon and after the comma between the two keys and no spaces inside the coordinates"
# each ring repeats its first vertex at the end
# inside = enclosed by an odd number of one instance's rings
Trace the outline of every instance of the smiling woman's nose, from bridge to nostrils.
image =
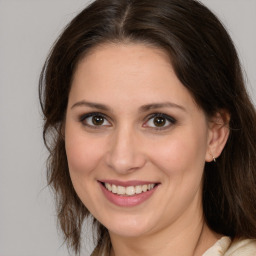
{"type": "Polygon", "coordinates": [[[107,165],[119,174],[127,174],[146,164],[143,143],[132,129],[120,128],[111,137],[107,165]]]}

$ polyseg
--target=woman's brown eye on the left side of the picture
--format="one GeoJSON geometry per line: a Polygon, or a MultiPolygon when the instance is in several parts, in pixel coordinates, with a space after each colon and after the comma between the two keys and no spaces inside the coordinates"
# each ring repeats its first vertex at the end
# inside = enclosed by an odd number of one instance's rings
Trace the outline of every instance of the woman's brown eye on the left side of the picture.
{"type": "Polygon", "coordinates": [[[100,128],[102,126],[111,126],[105,115],[101,113],[89,113],[85,114],[80,118],[83,125],[100,128]]]}

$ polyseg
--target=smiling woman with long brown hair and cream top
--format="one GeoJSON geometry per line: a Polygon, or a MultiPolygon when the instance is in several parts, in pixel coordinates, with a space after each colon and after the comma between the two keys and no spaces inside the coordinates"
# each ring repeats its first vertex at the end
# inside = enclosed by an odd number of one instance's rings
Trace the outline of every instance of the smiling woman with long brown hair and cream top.
{"type": "Polygon", "coordinates": [[[96,0],[40,79],[48,181],[93,255],[255,255],[256,113],[233,43],[194,0],[96,0]]]}

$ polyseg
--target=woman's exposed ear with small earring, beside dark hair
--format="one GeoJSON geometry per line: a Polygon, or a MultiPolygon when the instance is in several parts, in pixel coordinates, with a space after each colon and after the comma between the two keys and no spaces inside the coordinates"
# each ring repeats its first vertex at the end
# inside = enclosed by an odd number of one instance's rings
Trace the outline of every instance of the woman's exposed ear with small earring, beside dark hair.
{"type": "Polygon", "coordinates": [[[215,161],[226,145],[229,136],[230,114],[221,110],[209,120],[208,148],[205,156],[206,162],[215,161]]]}

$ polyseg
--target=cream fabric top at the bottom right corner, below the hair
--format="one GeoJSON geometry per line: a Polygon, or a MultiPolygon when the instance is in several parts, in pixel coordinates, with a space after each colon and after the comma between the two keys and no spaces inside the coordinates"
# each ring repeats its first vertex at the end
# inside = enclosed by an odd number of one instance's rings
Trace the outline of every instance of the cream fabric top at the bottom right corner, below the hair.
{"type": "Polygon", "coordinates": [[[218,240],[202,256],[256,256],[256,240],[234,240],[227,236],[218,240]]]}

